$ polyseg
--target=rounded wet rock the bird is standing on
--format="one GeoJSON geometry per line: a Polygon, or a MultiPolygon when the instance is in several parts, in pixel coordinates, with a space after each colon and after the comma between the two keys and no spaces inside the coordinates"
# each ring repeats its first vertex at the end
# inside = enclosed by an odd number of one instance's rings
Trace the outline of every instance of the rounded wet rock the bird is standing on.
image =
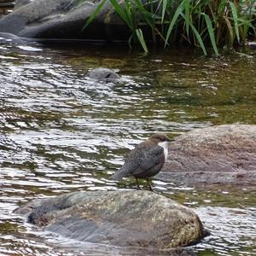
{"type": "Polygon", "coordinates": [[[74,192],[32,201],[16,212],[44,230],[126,249],[166,252],[205,234],[189,207],[147,190],[74,192]]]}

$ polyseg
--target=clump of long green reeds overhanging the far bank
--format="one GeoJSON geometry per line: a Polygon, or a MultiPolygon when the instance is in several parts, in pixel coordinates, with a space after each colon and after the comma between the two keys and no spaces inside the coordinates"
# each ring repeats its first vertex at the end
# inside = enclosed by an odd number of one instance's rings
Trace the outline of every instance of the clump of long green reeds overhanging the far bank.
{"type": "Polygon", "coordinates": [[[84,28],[107,1],[130,28],[130,45],[138,42],[145,52],[148,44],[184,43],[218,55],[219,49],[245,45],[249,31],[255,38],[256,0],[102,0],[84,28]]]}

